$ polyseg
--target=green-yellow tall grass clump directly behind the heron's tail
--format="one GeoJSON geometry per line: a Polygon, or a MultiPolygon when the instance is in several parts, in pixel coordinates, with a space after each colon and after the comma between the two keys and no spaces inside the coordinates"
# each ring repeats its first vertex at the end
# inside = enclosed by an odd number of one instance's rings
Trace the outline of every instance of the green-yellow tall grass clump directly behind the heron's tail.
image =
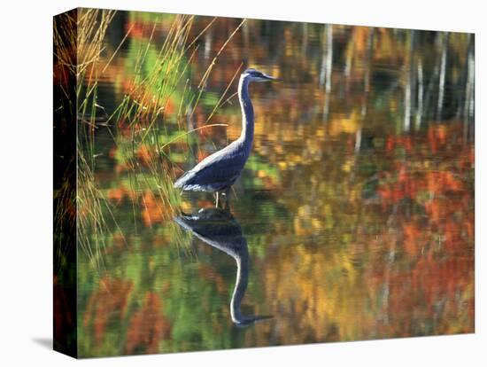
{"type": "MultiPolygon", "coordinates": [[[[138,50],[132,88],[111,116],[130,129],[129,139],[119,135],[116,141],[131,172],[132,189],[136,192],[156,191],[160,211],[167,217],[174,215],[180,197],[172,187],[173,164],[161,149],[161,138],[167,134],[168,104],[194,55],[185,58],[193,19],[178,15],[156,58],[151,59],[152,65],[147,65],[153,36],[159,26],[158,22],[154,23],[148,42],[138,50]]],[[[183,93],[182,100],[185,95],[183,93]]],[[[133,202],[133,205],[137,203],[133,202]]]]}

